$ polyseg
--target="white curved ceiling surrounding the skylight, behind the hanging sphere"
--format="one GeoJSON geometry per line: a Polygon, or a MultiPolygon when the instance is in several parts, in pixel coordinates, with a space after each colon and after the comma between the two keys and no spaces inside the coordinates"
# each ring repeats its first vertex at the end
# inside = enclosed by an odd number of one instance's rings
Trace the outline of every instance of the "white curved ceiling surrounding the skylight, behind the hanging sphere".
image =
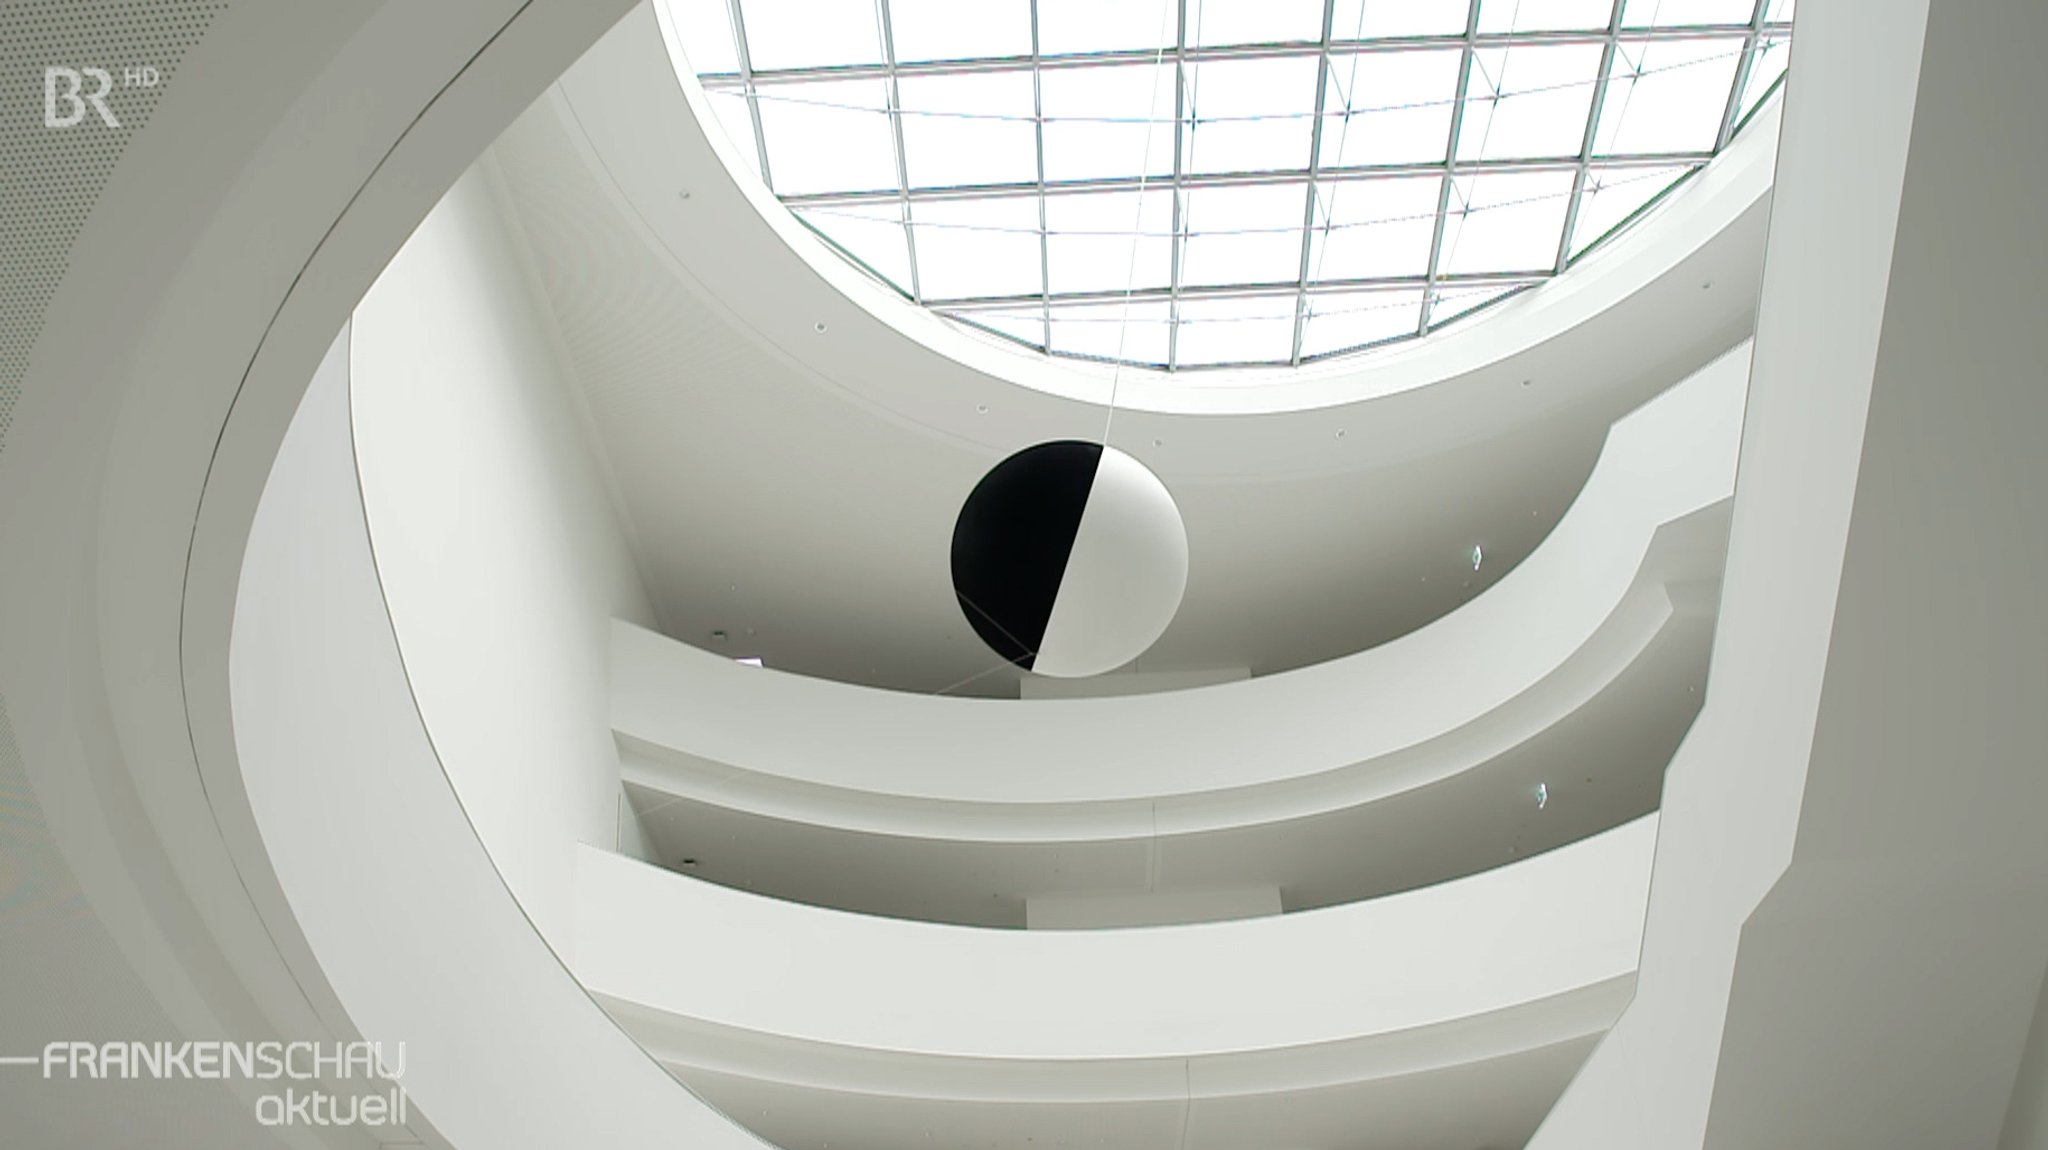
{"type": "MultiPolygon", "coordinates": [[[[733,180],[686,96],[659,43],[614,37],[494,147],[662,628],[821,677],[1014,696],[1018,671],[958,618],[946,538],[997,458],[1102,436],[1102,409],[1061,395],[1094,381],[862,297],[733,180]]],[[[1544,291],[1341,377],[1257,385],[1278,411],[1145,409],[1159,397],[1126,379],[1116,444],[1174,489],[1192,552],[1141,669],[1315,663],[1511,569],[1614,417],[1747,336],[1769,168],[1753,135],[1747,168],[1712,166],[1544,291]],[[1432,364],[1448,379],[1421,385],[1432,364]],[[1286,409],[1317,391],[1376,399],[1286,409]]],[[[1235,403],[1214,379],[1174,401],[1235,403]]]]}

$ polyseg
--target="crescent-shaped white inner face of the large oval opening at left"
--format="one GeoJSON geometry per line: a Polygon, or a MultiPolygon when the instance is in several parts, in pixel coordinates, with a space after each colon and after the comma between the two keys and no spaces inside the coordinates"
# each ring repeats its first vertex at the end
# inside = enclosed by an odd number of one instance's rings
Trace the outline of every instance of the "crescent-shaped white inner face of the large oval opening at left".
{"type": "Polygon", "coordinates": [[[385,612],[346,370],[344,334],[264,487],[229,665],[250,808],[319,972],[360,1035],[406,1044],[446,1144],[758,1146],[592,1007],[477,847],[385,612]]]}

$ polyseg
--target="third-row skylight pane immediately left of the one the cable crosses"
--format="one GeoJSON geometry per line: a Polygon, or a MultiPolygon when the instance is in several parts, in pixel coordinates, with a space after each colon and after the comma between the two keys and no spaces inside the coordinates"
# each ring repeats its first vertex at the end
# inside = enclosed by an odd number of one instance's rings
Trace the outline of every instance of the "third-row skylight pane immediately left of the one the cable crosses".
{"type": "Polygon", "coordinates": [[[1038,196],[911,203],[926,299],[1038,295],[1038,196]]]}

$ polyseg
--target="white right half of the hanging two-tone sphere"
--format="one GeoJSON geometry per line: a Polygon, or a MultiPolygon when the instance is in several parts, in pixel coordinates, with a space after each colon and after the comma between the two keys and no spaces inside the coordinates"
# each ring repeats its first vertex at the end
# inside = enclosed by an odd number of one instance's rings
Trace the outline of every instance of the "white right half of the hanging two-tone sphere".
{"type": "Polygon", "coordinates": [[[1165,634],[1186,589],[1174,495],[1143,462],[1102,448],[1032,671],[1079,679],[1122,667],[1165,634]]]}

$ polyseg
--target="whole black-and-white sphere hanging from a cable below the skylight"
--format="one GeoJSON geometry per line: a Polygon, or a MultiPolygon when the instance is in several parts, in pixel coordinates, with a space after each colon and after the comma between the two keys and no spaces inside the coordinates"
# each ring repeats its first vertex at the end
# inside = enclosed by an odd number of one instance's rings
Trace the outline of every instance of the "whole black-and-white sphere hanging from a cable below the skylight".
{"type": "Polygon", "coordinates": [[[1159,477],[1079,440],[1028,446],[967,495],[952,589],[975,634],[1040,675],[1114,671],[1151,647],[1188,589],[1188,528],[1159,477]]]}

